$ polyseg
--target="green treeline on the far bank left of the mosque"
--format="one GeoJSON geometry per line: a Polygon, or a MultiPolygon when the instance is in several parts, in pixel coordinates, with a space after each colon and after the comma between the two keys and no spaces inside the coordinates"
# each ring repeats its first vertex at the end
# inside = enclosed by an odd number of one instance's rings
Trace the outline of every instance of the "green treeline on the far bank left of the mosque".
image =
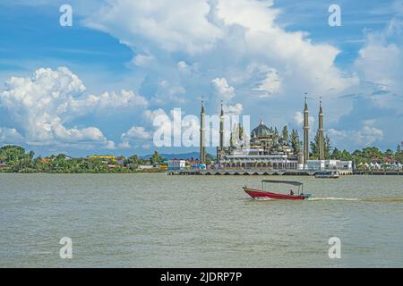
{"type": "Polygon", "coordinates": [[[147,160],[137,155],[117,158],[119,162],[101,158],[72,158],[63,154],[42,158],[35,157],[32,151],[27,153],[20,146],[4,146],[0,147],[0,172],[144,172],[139,169],[144,164],[156,167],[146,170],[147,172],[159,172],[159,164],[165,161],[157,152],[147,160]]]}

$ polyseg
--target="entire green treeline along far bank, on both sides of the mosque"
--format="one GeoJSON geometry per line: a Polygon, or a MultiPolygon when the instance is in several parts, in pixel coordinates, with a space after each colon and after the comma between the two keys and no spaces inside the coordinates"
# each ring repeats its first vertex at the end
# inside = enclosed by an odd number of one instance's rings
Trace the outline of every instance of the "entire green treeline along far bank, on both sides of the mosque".
{"type": "MultiPolygon", "coordinates": [[[[285,130],[283,130],[285,131],[285,130]]],[[[284,132],[284,138],[287,138],[287,131],[284,132]]],[[[289,136],[289,144],[295,152],[299,151],[301,142],[298,139],[298,133],[293,130],[289,136]]],[[[310,159],[317,159],[318,137],[311,142],[310,159]]],[[[329,137],[325,139],[325,157],[326,159],[353,161],[356,168],[362,169],[366,164],[403,164],[403,151],[400,146],[396,151],[387,149],[382,152],[378,147],[364,147],[354,152],[346,149],[340,150],[337,147],[331,147],[329,137]]],[[[215,158],[209,156],[211,162],[215,158]]],[[[85,172],[160,172],[161,166],[166,165],[166,160],[155,152],[149,159],[141,159],[137,155],[125,158],[116,157],[116,161],[101,158],[71,158],[63,154],[57,156],[48,156],[42,158],[35,157],[34,152],[26,150],[20,146],[0,147],[0,172],[60,172],[60,173],[85,173],[85,172]],[[119,161],[119,162],[117,162],[119,161]],[[155,168],[141,170],[142,165],[153,166],[155,168]]]]}

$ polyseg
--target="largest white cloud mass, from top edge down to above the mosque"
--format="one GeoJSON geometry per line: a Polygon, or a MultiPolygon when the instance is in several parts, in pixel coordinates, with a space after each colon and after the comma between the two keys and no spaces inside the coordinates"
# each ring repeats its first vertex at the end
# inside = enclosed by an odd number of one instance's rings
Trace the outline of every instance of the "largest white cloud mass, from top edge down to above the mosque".
{"type": "Polygon", "coordinates": [[[289,109],[299,110],[308,91],[329,99],[328,111],[337,114],[332,118],[336,122],[351,106],[334,98],[356,85],[356,76],[335,65],[340,53],[336,46],[313,43],[304,32],[280,27],[277,20],[282,11],[272,4],[268,0],[111,0],[85,22],[118,38],[135,55],[153,55],[156,65],[144,71],[146,76],[184,88],[186,98],[183,93],[172,95],[160,84],[157,92],[148,86],[155,107],[171,103],[184,107],[213,89],[227,105],[234,106],[229,101],[240,98],[238,103],[250,114],[261,109],[262,102],[270,105],[279,98],[290,102],[289,109]],[[178,61],[178,55],[183,59],[178,61]],[[251,96],[257,97],[256,102],[251,96]]]}

